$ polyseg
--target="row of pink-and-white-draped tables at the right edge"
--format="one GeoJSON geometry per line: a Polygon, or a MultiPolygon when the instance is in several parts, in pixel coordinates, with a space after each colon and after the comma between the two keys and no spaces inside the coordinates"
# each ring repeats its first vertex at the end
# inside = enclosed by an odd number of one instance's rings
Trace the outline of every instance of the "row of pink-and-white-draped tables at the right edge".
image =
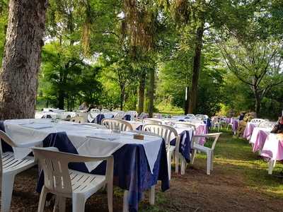
{"type": "Polygon", "coordinates": [[[252,144],[253,152],[258,152],[269,161],[268,173],[271,175],[277,160],[283,160],[283,137],[272,134],[272,128],[263,128],[260,123],[248,122],[243,133],[243,138],[252,144]]]}

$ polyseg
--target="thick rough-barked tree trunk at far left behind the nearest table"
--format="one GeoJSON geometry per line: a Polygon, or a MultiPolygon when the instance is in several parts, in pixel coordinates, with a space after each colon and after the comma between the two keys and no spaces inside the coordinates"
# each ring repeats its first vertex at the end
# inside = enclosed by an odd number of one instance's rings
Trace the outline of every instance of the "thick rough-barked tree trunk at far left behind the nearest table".
{"type": "Polygon", "coordinates": [[[47,0],[10,0],[0,73],[0,118],[33,118],[47,0]]]}

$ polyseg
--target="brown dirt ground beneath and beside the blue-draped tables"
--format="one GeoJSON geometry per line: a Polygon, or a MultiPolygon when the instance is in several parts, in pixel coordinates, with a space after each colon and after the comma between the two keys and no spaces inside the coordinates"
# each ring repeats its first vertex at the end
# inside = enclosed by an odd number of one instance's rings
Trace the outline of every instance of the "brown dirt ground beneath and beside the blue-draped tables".
{"type": "MultiPolygon", "coordinates": [[[[227,138],[224,136],[218,144],[218,155],[216,154],[212,175],[205,174],[206,160],[202,156],[198,157],[195,165],[187,167],[185,175],[173,173],[171,189],[167,192],[159,192],[160,186],[156,187],[155,206],[149,206],[148,199],[145,197],[144,201],[139,204],[139,211],[283,211],[282,196],[276,197],[272,194],[267,195],[266,192],[262,193],[263,189],[259,189],[260,186],[257,189],[248,187],[247,171],[248,169],[256,170],[258,167],[250,168],[227,163],[227,160],[233,160],[253,165],[257,160],[256,156],[250,153],[246,143],[241,140],[229,141],[229,143],[226,141],[227,138]],[[241,142],[242,146],[236,146],[241,142]],[[227,153],[228,148],[233,151],[227,153]],[[242,149],[245,148],[246,152],[242,153],[242,149]],[[240,149],[241,154],[237,149],[240,149]],[[243,158],[245,155],[248,155],[247,158],[243,158]]],[[[255,179],[260,181],[262,177],[268,177],[270,183],[274,183],[273,179],[267,176],[264,168],[260,167],[258,170],[260,172],[255,172],[255,179]]],[[[36,176],[36,168],[18,175],[11,211],[37,211],[39,194],[35,192],[36,176]]],[[[279,182],[274,185],[275,188],[282,182],[283,179],[279,179],[279,182]]],[[[120,189],[115,189],[113,202],[113,211],[122,211],[122,191],[120,189]]],[[[46,211],[52,211],[52,208],[47,208],[46,211]]],[[[70,201],[67,201],[67,211],[71,211],[70,201]]],[[[91,197],[86,202],[87,211],[108,211],[106,195],[102,192],[91,197]]]]}

